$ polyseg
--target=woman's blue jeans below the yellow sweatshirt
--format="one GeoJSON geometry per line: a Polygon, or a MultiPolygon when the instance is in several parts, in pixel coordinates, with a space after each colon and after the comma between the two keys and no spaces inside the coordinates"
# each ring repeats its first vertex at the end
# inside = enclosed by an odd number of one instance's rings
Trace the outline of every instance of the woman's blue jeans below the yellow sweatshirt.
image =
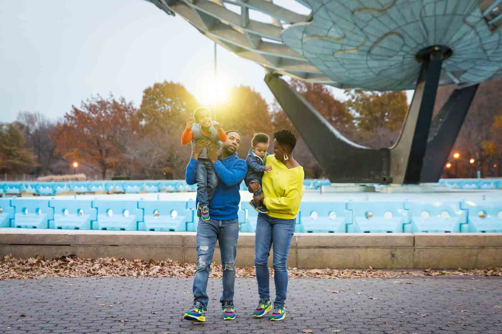
{"type": "Polygon", "coordinates": [[[274,246],[274,282],[276,299],[274,306],[284,305],[288,290],[288,254],[291,237],[295,231],[296,218],[274,218],[264,213],[258,214],[255,237],[255,268],[258,294],[262,299],[270,299],[269,266],[267,261],[270,247],[274,246]]]}

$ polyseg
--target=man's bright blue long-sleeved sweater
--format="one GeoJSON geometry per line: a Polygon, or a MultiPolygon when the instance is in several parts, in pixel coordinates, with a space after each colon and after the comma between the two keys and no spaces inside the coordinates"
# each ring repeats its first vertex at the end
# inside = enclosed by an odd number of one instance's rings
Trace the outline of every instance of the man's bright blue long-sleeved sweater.
{"type": "MultiPolygon", "coordinates": [[[[198,160],[190,158],[185,173],[188,184],[195,184],[195,171],[198,160]]],[[[209,215],[211,219],[230,220],[237,219],[237,211],[240,203],[240,182],[247,173],[247,165],[243,159],[234,153],[225,159],[219,159],[214,163],[214,170],[218,176],[218,186],[214,196],[209,202],[209,215]]],[[[199,199],[196,199],[196,205],[199,199]]]]}

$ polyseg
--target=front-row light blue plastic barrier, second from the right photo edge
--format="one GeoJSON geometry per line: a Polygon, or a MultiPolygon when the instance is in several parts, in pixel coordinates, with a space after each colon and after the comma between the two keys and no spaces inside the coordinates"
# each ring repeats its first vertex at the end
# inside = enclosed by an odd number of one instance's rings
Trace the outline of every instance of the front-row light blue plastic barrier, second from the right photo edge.
{"type": "Polygon", "coordinates": [[[461,224],[467,223],[467,212],[458,201],[405,201],[404,208],[411,218],[405,232],[460,232],[461,224]]]}

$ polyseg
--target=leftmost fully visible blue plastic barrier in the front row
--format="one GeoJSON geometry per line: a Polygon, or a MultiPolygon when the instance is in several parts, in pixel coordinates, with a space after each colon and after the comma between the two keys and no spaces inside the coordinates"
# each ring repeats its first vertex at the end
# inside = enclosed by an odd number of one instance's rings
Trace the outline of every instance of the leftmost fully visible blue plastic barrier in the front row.
{"type": "Polygon", "coordinates": [[[48,199],[13,198],[11,205],[15,208],[12,227],[49,228],[54,219],[54,209],[49,207],[48,199]]]}

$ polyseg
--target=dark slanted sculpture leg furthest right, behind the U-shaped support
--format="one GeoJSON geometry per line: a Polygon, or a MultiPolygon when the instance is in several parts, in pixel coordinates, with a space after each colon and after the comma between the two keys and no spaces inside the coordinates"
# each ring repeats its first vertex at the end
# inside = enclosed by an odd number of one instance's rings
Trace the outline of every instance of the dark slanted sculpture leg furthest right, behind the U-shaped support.
{"type": "Polygon", "coordinates": [[[437,182],[457,139],[479,84],[454,90],[434,117],[420,182],[437,182]]]}

